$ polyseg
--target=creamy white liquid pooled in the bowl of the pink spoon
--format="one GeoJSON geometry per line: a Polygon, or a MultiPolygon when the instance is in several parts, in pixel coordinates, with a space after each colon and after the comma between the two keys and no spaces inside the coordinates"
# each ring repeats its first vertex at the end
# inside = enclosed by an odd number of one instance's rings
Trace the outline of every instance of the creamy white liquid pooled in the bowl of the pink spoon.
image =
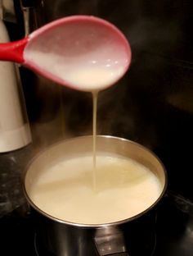
{"type": "MultiPolygon", "coordinates": [[[[26,52],[26,49],[25,49],[26,52]]],[[[74,89],[80,89],[87,92],[93,90],[106,89],[121,78],[124,73],[125,65],[114,61],[113,59],[104,63],[95,63],[92,56],[88,57],[85,62],[79,62],[79,57],[72,60],[63,60],[60,55],[45,54],[35,51],[27,51],[25,60],[36,66],[38,63],[39,70],[47,72],[49,78],[56,80],[59,84],[70,85],[74,89]],[[114,63],[115,62],[115,63],[114,63]]]]}

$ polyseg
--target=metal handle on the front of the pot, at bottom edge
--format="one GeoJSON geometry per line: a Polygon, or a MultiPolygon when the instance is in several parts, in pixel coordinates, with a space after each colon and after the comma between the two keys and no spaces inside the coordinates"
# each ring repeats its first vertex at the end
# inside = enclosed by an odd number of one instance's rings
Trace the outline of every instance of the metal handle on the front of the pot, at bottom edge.
{"type": "Polygon", "coordinates": [[[96,230],[94,238],[100,256],[129,256],[123,232],[117,226],[104,226],[96,230]]]}

